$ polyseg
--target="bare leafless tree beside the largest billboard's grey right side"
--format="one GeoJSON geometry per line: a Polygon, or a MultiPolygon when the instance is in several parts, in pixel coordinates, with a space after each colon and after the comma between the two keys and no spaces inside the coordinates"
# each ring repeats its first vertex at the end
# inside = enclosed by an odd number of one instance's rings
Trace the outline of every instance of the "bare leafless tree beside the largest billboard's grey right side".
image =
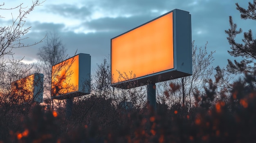
{"type": "Polygon", "coordinates": [[[213,53],[215,53],[215,51],[207,53],[207,44],[205,44],[204,48],[198,48],[194,45],[193,41],[193,75],[160,83],[160,86],[163,88],[159,88],[159,91],[157,91],[158,94],[162,94],[162,96],[158,96],[158,102],[171,102],[171,104],[180,103],[183,107],[188,105],[191,108],[193,104],[193,92],[203,89],[204,83],[208,81],[213,74],[213,67],[209,67],[214,60],[213,53]],[[174,85],[179,85],[176,92],[172,92],[172,88],[175,88],[174,85]]]}

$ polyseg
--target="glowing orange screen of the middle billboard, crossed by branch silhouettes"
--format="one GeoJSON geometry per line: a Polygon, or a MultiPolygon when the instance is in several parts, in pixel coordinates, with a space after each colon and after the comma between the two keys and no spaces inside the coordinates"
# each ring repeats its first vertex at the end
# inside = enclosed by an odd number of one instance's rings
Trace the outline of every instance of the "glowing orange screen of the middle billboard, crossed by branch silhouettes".
{"type": "Polygon", "coordinates": [[[79,55],[52,66],[52,96],[78,90],[79,55]]]}

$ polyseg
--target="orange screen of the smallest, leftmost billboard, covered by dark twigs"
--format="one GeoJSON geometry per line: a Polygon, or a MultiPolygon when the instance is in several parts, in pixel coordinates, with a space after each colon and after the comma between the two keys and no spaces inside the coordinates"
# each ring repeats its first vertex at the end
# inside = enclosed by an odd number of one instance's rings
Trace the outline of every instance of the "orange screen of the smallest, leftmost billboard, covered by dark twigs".
{"type": "Polygon", "coordinates": [[[18,103],[33,100],[34,95],[34,75],[19,79],[11,84],[11,91],[14,96],[18,96],[18,103]]]}

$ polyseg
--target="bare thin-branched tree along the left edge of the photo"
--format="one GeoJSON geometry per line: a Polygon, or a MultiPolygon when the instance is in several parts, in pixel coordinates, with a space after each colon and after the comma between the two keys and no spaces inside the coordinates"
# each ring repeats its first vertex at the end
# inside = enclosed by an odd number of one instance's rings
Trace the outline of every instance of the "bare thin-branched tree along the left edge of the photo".
{"type": "MultiPolygon", "coordinates": [[[[0,4],[1,11],[15,10],[19,11],[19,14],[16,17],[13,17],[12,24],[9,26],[0,27],[0,94],[1,102],[2,99],[5,98],[4,102],[11,101],[8,99],[11,84],[13,81],[17,81],[23,77],[26,77],[31,74],[31,69],[34,64],[24,64],[21,62],[22,59],[14,59],[13,58],[13,48],[25,48],[29,46],[33,46],[38,44],[39,42],[35,42],[34,44],[25,44],[23,41],[28,37],[24,37],[31,27],[24,28],[25,18],[27,15],[34,10],[36,6],[42,4],[39,0],[32,2],[31,7],[22,7],[22,4],[19,4],[14,8],[2,8],[4,7],[4,3],[0,4]]],[[[1,17],[0,15],[0,18],[1,17]]],[[[10,103],[10,102],[9,102],[10,103]]]]}

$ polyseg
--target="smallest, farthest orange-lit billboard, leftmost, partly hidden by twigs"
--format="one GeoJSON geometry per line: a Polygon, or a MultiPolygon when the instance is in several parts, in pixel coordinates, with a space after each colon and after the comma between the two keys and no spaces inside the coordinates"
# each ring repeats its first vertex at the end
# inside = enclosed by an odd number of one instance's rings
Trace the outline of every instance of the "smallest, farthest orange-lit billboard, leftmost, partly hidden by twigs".
{"type": "Polygon", "coordinates": [[[43,102],[43,74],[35,73],[11,84],[12,95],[17,103],[43,102]]]}

